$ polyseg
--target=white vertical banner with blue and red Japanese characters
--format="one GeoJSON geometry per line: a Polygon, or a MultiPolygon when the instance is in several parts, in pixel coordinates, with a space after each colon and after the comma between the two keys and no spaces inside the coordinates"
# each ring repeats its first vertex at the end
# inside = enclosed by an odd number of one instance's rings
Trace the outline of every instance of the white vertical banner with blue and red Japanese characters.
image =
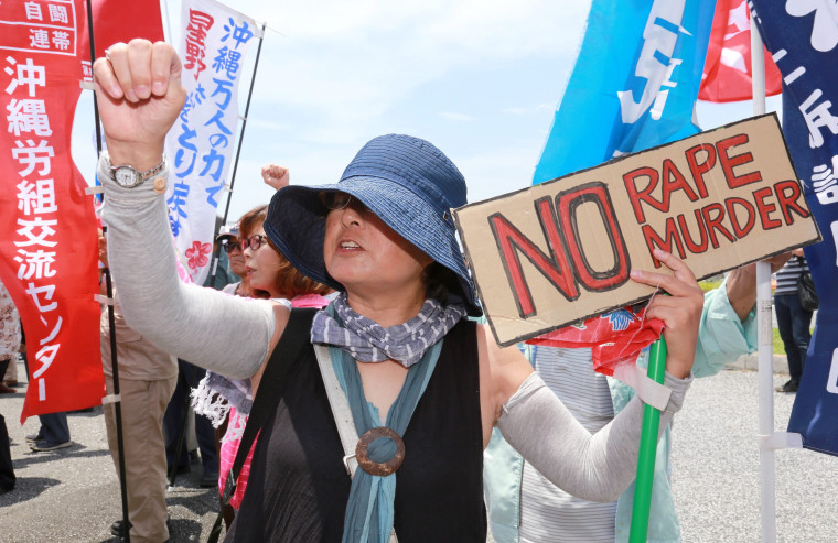
{"type": "Polygon", "coordinates": [[[206,278],[215,215],[228,183],[238,123],[238,83],[245,55],[261,29],[213,0],[184,0],[179,53],[189,93],[169,132],[166,191],[175,246],[192,280],[206,278]]]}

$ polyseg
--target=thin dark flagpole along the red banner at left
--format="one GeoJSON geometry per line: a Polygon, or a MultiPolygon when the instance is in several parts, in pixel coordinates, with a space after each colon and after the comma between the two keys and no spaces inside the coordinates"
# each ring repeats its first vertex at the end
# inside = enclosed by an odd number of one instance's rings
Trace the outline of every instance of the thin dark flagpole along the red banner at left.
{"type": "MultiPolygon", "coordinates": [[[[96,62],[96,41],[94,40],[93,31],[93,6],[90,0],[87,0],[87,37],[90,43],[90,73],[93,73],[93,63],[96,62]]],[[[101,127],[99,126],[99,107],[96,104],[96,89],[93,91],[93,112],[94,123],[96,126],[96,155],[101,153],[101,127]]],[[[103,195],[103,200],[104,200],[103,195]]],[[[107,228],[103,227],[103,234],[107,228]]],[[[105,274],[105,284],[108,295],[108,327],[110,333],[110,366],[114,373],[114,394],[108,398],[114,402],[114,415],[116,417],[117,426],[117,452],[119,465],[119,492],[122,499],[122,535],[127,543],[131,543],[130,528],[131,523],[128,520],[128,481],[126,479],[125,469],[125,441],[122,438],[122,406],[119,397],[119,366],[117,363],[117,336],[116,336],[116,316],[114,315],[114,284],[110,279],[110,270],[105,267],[103,270],[105,274]]]]}

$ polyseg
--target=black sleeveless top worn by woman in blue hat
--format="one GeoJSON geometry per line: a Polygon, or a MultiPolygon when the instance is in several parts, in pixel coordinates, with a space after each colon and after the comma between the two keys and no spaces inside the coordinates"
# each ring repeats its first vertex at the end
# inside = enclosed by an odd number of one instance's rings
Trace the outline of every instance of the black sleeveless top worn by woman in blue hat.
{"type": "MultiPolygon", "coordinates": [[[[260,392],[261,393],[261,392],[260,392]]],[[[259,438],[226,542],[337,542],[350,476],[314,349],[293,362],[259,438]]],[[[475,324],[461,321],[405,433],[396,471],[399,543],[486,541],[475,324]]]]}

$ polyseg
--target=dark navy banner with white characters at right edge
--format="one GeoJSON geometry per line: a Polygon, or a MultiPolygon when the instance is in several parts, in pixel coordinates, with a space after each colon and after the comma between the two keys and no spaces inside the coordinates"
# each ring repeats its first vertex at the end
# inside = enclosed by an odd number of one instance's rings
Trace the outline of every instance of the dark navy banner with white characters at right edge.
{"type": "Polygon", "coordinates": [[[803,446],[838,456],[838,20],[834,2],[753,0],[783,74],[783,132],[824,241],[805,249],[820,306],[788,422],[803,446]]]}

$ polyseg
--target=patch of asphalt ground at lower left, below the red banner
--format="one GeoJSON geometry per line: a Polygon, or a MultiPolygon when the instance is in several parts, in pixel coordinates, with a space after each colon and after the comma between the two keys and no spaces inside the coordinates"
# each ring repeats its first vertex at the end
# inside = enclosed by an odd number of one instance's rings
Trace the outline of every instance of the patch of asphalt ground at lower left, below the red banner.
{"type": "MultiPolygon", "coordinates": [[[[25,377],[23,363],[19,378],[25,377]]],[[[119,479],[108,452],[101,408],[67,416],[73,446],[32,453],[25,436],[37,432],[37,417],[20,425],[25,387],[0,394],[0,413],[11,437],[18,484],[0,496],[0,543],[118,543],[110,524],[122,518],[119,479]]],[[[201,488],[201,466],[179,475],[166,502],[172,543],[206,541],[218,502],[201,488]]]]}

